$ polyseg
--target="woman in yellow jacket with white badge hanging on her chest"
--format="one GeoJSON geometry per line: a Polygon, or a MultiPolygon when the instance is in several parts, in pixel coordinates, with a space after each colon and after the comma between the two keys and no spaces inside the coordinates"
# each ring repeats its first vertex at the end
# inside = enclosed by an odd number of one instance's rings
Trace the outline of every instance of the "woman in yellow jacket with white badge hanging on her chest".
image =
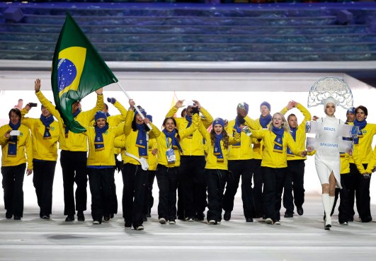
{"type": "Polygon", "coordinates": [[[159,187],[158,219],[160,224],[176,224],[176,189],[178,188],[178,167],[181,163],[181,141],[193,134],[198,127],[198,113],[193,115],[188,128],[176,129],[176,120],[166,117],[164,129],[156,139],[156,182],[159,187]]]}

